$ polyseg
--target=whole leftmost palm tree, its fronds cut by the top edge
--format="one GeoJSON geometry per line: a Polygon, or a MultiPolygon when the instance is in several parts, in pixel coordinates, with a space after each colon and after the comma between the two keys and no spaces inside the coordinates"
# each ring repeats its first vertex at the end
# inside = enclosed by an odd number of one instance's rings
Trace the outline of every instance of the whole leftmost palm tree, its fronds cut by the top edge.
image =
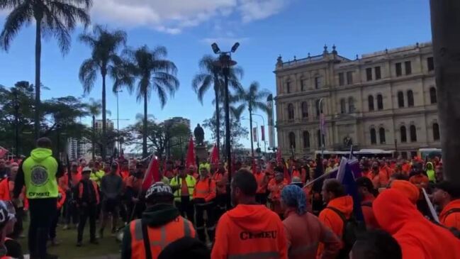
{"type": "Polygon", "coordinates": [[[54,35],[63,54],[70,50],[70,33],[78,23],[89,26],[92,0],[0,0],[0,9],[11,9],[0,34],[0,47],[10,43],[22,26],[35,20],[35,138],[40,137],[40,70],[42,33],[54,35]]]}

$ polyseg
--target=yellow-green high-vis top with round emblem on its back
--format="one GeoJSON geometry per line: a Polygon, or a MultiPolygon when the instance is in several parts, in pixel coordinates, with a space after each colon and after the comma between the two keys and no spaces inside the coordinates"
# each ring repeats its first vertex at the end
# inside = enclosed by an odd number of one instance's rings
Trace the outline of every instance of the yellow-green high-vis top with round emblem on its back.
{"type": "MultiPolygon", "coordinates": [[[[48,152],[46,148],[35,148],[32,153],[48,152]]],[[[26,183],[26,196],[28,199],[56,198],[57,194],[57,160],[51,155],[35,160],[27,158],[23,162],[24,182],[26,183]]]]}

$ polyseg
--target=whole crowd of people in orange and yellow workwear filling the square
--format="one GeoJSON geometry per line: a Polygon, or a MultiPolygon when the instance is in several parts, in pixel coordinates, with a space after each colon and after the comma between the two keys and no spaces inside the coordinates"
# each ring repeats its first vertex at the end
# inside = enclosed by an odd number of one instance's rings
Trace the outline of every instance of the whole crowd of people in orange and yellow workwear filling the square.
{"type": "Polygon", "coordinates": [[[247,158],[230,175],[224,162],[164,160],[145,187],[148,160],[63,165],[51,144],[40,138],[25,160],[0,160],[4,255],[21,258],[28,211],[30,258],[57,258],[47,242],[58,245],[59,221],[77,228],[77,246],[86,221],[89,243],[109,228],[123,259],[460,258],[460,187],[443,179],[439,158],[362,158],[354,197],[325,177],[338,157],[247,158]]]}

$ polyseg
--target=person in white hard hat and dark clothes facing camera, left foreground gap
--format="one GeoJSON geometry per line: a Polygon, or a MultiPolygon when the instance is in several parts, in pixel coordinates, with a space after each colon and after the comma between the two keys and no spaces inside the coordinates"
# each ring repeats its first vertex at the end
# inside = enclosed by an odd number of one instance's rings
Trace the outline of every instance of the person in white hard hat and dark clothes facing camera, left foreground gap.
{"type": "Polygon", "coordinates": [[[84,225],[89,219],[89,242],[98,244],[96,240],[96,210],[99,204],[99,190],[96,182],[89,178],[91,168],[84,167],[82,180],[80,180],[76,194],[77,206],[80,212],[80,222],[78,224],[77,246],[82,246],[84,225]]]}

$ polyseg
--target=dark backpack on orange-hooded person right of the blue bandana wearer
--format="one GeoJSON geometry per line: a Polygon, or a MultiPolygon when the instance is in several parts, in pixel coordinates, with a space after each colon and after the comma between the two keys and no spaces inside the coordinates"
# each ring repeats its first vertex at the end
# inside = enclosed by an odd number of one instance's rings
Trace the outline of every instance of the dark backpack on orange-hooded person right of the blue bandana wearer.
{"type": "Polygon", "coordinates": [[[336,259],[349,258],[349,253],[352,250],[354,243],[357,241],[357,236],[359,234],[360,226],[358,221],[354,218],[353,214],[349,219],[347,219],[342,211],[335,209],[332,206],[327,206],[326,209],[334,211],[343,221],[342,241],[344,246],[340,249],[336,259]]]}

